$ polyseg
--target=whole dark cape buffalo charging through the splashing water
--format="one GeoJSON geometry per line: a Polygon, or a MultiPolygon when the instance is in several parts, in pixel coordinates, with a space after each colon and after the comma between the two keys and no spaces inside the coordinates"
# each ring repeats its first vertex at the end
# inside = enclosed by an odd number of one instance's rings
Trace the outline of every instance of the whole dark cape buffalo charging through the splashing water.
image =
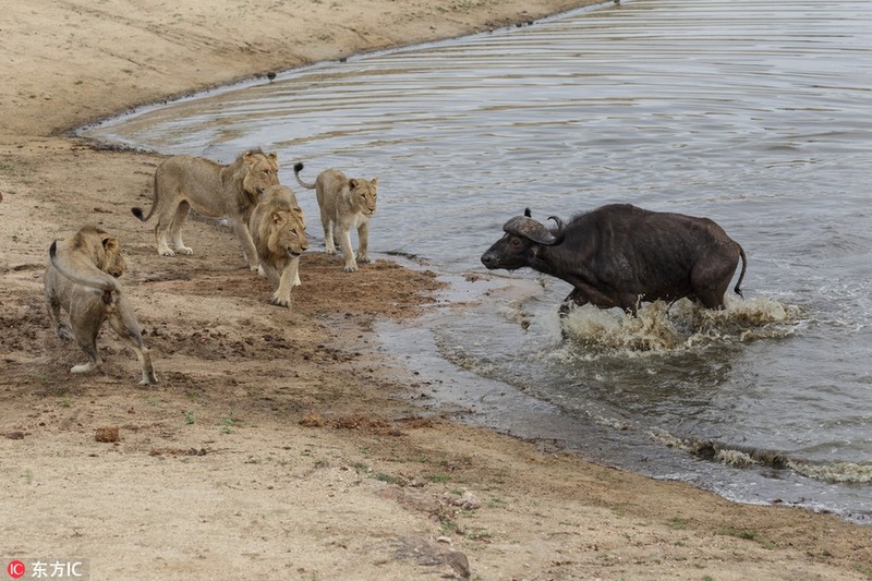
{"type": "Polygon", "coordinates": [[[574,289],[565,307],[572,301],[635,314],[642,301],[685,296],[724,308],[724,293],[741,257],[734,288],[741,296],[744,251],[708,218],[611,204],[566,225],[556,216],[549,219],[556,228],[531,218],[528,208],[507,221],[506,233],[482,255],[482,263],[491,270],[528,266],[566,280],[574,289]]]}

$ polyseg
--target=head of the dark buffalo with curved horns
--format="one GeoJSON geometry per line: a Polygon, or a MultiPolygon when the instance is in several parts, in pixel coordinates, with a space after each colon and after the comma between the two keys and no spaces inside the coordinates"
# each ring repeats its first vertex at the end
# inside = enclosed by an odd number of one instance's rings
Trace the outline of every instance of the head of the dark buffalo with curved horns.
{"type": "Polygon", "coordinates": [[[548,218],[557,225],[557,230],[552,232],[542,222],[530,216],[530,208],[523,216],[516,216],[502,225],[502,238],[497,240],[487,252],[482,254],[482,264],[489,270],[505,268],[514,270],[530,266],[531,258],[535,256],[541,246],[554,246],[564,241],[564,222],[557,216],[548,218]]]}

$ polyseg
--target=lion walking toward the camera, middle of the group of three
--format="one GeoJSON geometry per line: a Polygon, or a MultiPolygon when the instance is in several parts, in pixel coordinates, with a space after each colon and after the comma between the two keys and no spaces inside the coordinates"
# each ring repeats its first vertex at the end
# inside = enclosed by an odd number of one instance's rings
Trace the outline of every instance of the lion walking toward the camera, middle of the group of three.
{"type": "Polygon", "coordinates": [[[268,187],[252,211],[249,230],[262,274],[275,291],[270,302],[291,306],[291,288],[300,286],[300,255],[308,247],[305,215],[291,189],[268,187]]]}

